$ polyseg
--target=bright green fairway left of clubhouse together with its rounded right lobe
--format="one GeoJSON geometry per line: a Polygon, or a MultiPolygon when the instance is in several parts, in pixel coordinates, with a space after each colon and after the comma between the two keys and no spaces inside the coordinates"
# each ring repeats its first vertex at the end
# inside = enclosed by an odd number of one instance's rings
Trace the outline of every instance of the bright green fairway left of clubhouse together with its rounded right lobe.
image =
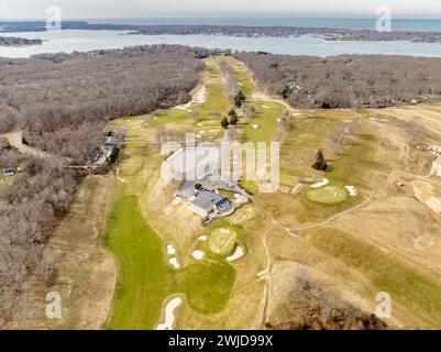
{"type": "Polygon", "coordinates": [[[227,306],[234,268],[210,258],[170,270],[165,244],[145,223],[137,197],[122,197],[114,204],[106,242],[120,268],[109,329],[154,329],[164,300],[178,293],[186,294],[189,306],[199,314],[216,314],[227,306]]]}

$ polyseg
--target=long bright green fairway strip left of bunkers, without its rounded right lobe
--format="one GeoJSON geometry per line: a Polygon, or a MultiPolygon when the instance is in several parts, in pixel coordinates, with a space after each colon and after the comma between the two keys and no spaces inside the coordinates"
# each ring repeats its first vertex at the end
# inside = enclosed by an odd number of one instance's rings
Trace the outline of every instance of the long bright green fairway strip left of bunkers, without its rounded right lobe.
{"type": "Polygon", "coordinates": [[[135,196],[118,200],[108,223],[107,245],[120,267],[109,329],[153,329],[163,300],[177,290],[163,243],[143,220],[137,201],[135,196]]]}

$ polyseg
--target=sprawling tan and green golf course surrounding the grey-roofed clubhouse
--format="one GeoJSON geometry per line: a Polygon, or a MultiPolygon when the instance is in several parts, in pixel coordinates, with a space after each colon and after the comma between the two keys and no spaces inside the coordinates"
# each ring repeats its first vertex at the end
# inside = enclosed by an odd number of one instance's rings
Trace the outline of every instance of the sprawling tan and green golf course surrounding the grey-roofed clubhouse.
{"type": "Polygon", "coordinates": [[[62,319],[47,322],[34,280],[25,304],[35,309],[12,326],[441,328],[441,106],[299,110],[218,55],[203,59],[191,100],[104,129],[121,131],[118,162],[82,180],[48,242],[62,319]],[[261,193],[245,172],[227,186],[165,182],[179,148],[158,141],[185,133],[278,142],[277,189],[261,193]]]}

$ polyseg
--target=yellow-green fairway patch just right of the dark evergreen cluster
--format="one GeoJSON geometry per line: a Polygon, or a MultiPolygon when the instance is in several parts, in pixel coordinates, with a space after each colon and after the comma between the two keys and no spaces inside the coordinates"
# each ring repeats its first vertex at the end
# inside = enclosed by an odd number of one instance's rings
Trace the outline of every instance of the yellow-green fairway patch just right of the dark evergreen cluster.
{"type": "Polygon", "coordinates": [[[250,123],[245,128],[245,140],[253,143],[268,143],[274,140],[278,125],[277,119],[282,118],[286,108],[276,102],[265,101],[257,102],[254,107],[257,111],[255,117],[250,120],[250,123]],[[268,107],[269,109],[265,109],[263,106],[268,107]],[[253,124],[258,124],[258,128],[254,129],[253,124]]]}

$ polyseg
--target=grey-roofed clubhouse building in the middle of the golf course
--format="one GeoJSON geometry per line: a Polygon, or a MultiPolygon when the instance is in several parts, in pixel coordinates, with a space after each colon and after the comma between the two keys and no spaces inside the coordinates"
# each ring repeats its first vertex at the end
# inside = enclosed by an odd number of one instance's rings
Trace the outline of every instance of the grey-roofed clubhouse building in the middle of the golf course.
{"type": "Polygon", "coordinates": [[[211,213],[228,215],[234,210],[234,206],[227,197],[202,188],[189,201],[188,209],[202,218],[207,218],[211,213]]]}

